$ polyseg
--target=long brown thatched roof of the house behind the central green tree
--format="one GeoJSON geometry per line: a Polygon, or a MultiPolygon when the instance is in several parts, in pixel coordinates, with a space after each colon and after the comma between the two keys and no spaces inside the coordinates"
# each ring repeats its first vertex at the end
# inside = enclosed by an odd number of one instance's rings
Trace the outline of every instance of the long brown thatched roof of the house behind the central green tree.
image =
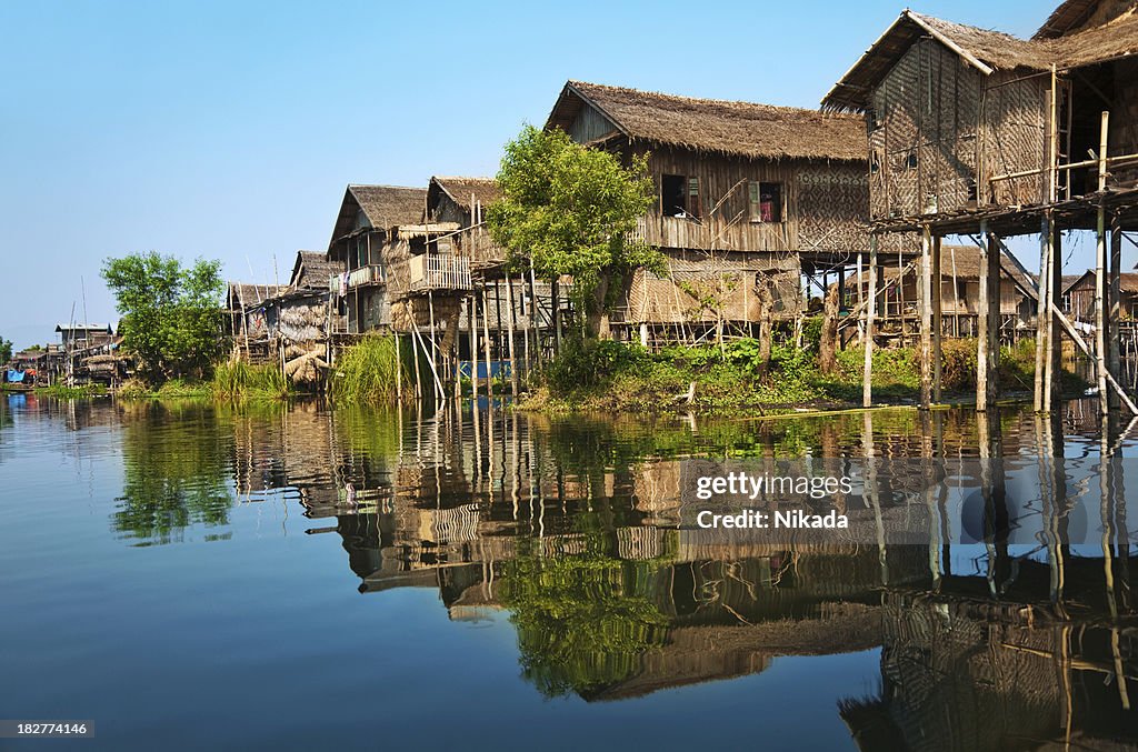
{"type": "Polygon", "coordinates": [[[615,132],[649,144],[751,159],[866,159],[865,122],[858,116],[582,81],[564,85],[545,126],[568,130],[583,107],[596,109],[615,132]]]}

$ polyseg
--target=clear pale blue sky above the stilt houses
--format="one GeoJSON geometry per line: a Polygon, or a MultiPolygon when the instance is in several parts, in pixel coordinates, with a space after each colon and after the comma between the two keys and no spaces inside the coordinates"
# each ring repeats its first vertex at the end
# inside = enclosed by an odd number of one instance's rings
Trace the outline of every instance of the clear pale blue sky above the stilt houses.
{"type": "MultiPolygon", "coordinates": [[[[1030,35],[1056,1],[915,9],[1030,35]]],[[[347,183],[493,174],[567,78],[816,107],[901,8],[0,3],[0,336],[52,340],[84,287],[116,320],[99,268],[135,250],[287,279],[347,183]]]]}

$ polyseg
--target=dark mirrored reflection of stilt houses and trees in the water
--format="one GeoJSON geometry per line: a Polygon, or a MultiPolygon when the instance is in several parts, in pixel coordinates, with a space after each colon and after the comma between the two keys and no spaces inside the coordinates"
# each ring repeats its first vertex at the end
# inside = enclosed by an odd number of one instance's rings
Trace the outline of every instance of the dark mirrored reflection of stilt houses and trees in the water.
{"type": "MultiPolygon", "coordinates": [[[[432,588],[453,620],[509,618],[522,676],[550,696],[615,701],[780,656],[879,650],[880,691],[834,709],[863,749],[1098,749],[1138,743],[1138,620],[1132,546],[1116,532],[1121,465],[1107,476],[1105,548],[1062,535],[1067,497],[1097,507],[1099,493],[1050,458],[1062,437],[1082,456],[1120,432],[1081,410],[1055,424],[898,412],[699,431],[485,407],[477,425],[469,410],[291,410],[238,419],[234,466],[239,495],[286,493],[308,532],[338,535],[361,593],[432,588]],[[1048,457],[1040,498],[1058,511],[1033,518],[1038,545],[997,531],[971,547],[789,547],[676,524],[685,456],[976,457],[978,446],[1032,473],[1048,457]]],[[[954,482],[993,499],[1000,478],[954,482]]]]}

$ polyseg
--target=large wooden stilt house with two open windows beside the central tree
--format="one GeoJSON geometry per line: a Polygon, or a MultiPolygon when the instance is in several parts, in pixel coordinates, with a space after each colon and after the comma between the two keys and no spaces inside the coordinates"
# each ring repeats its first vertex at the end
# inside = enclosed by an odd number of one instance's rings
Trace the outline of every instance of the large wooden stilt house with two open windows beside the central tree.
{"type": "Polygon", "coordinates": [[[637,271],[626,290],[620,319],[642,338],[717,320],[745,329],[764,287],[776,316],[794,316],[803,272],[850,263],[868,246],[860,115],[570,81],[546,127],[626,164],[650,155],[657,201],[640,233],[669,273],[637,271]]]}

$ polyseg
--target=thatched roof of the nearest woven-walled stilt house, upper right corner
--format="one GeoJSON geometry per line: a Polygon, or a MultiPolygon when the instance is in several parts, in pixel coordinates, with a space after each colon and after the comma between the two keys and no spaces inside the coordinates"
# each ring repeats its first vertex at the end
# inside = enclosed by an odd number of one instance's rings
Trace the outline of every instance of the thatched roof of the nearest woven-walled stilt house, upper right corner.
{"type": "Polygon", "coordinates": [[[983,75],[996,71],[1048,71],[1053,64],[1070,68],[1135,55],[1138,52],[1138,16],[1131,6],[1110,23],[1079,33],[1058,39],[1044,39],[1037,34],[1033,40],[1024,40],[904,10],[823,98],[823,108],[864,110],[874,88],[909,47],[923,36],[935,39],[983,75]]]}

